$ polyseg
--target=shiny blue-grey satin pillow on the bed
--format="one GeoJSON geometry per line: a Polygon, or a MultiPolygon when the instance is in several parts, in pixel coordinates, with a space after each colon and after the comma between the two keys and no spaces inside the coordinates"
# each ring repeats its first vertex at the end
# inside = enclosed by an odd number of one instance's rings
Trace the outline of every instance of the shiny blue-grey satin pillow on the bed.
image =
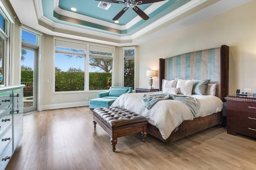
{"type": "Polygon", "coordinates": [[[195,80],[193,84],[192,94],[206,95],[210,79],[195,80]]]}

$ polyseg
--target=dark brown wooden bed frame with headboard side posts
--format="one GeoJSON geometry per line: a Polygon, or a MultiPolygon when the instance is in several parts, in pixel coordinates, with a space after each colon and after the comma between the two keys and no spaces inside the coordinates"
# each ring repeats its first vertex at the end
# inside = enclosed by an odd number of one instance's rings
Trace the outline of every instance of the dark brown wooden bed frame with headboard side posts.
{"type": "MultiPolygon", "coordinates": [[[[159,60],[159,90],[162,90],[162,80],[164,79],[165,59],[159,60]]],[[[229,62],[229,47],[222,45],[220,47],[220,99],[224,102],[228,95],[228,62],[229,62]]],[[[222,123],[222,111],[213,113],[206,117],[197,117],[193,120],[183,121],[171,135],[164,140],[157,127],[148,123],[148,133],[161,139],[164,142],[170,143],[188,135],[192,135],[214,125],[222,123]]]]}

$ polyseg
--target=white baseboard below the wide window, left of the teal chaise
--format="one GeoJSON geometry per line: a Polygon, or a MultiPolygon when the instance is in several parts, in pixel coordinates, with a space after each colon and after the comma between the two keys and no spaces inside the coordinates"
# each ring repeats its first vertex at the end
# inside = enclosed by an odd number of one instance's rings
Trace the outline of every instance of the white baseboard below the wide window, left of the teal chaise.
{"type": "Polygon", "coordinates": [[[62,103],[62,104],[49,104],[39,107],[39,111],[49,110],[49,109],[61,109],[66,107],[78,107],[78,106],[89,106],[88,102],[74,102],[74,103],[62,103]]]}

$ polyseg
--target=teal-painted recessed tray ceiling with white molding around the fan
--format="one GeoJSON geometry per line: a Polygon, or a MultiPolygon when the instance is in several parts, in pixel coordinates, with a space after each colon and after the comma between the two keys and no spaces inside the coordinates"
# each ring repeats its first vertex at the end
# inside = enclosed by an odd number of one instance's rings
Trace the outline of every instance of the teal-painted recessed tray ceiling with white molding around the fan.
{"type": "MultiPolygon", "coordinates": [[[[121,1],[121,0],[120,0],[121,1]]],[[[95,0],[42,0],[42,8],[43,15],[48,19],[54,21],[55,23],[66,24],[70,26],[75,26],[83,29],[88,29],[92,31],[99,31],[102,33],[108,33],[110,35],[117,36],[129,36],[133,35],[140,29],[154,23],[170,12],[176,10],[180,6],[190,2],[190,0],[166,0],[166,3],[160,6],[157,9],[154,9],[148,16],[150,17],[148,20],[144,21],[141,19],[138,22],[132,24],[132,26],[127,29],[120,29],[117,27],[113,27],[113,24],[120,26],[124,26],[130,21],[134,20],[136,16],[138,16],[134,10],[128,9],[123,16],[119,18],[119,23],[116,24],[112,20],[116,14],[118,14],[124,7],[124,4],[112,4],[108,10],[104,10],[102,8],[97,7],[100,1],[95,0]],[[62,11],[61,14],[58,10],[54,9],[54,3],[58,2],[58,8],[62,11]],[[76,8],[77,11],[73,12],[70,8],[76,8]],[[80,14],[82,16],[87,16],[91,18],[95,18],[101,20],[103,22],[109,23],[101,24],[99,22],[94,22],[93,20],[86,21],[81,18],[77,18],[76,15],[80,14]],[[112,26],[111,26],[112,25],[112,26]]],[[[158,3],[158,2],[155,2],[158,3]]],[[[154,4],[154,3],[152,3],[154,4]]],[[[138,5],[138,7],[145,11],[152,4],[143,4],[138,5]]],[[[55,7],[56,8],[56,7],[55,7]]]]}

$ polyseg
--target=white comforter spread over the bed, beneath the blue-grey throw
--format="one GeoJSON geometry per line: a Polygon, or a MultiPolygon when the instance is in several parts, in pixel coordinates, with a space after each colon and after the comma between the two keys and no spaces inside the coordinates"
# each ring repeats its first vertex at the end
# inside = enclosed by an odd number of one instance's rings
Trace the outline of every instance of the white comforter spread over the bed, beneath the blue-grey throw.
{"type": "MultiPolygon", "coordinates": [[[[162,92],[152,92],[146,94],[160,94],[162,92]]],[[[138,113],[148,119],[148,123],[156,126],[163,139],[167,139],[172,131],[184,120],[193,120],[189,107],[176,100],[161,100],[150,110],[142,105],[141,97],[145,93],[123,94],[111,106],[124,107],[138,113]],[[170,107],[172,106],[172,107],[170,107]]],[[[205,117],[222,110],[222,101],[216,96],[192,95],[200,102],[200,109],[196,117],[205,117]]]]}

